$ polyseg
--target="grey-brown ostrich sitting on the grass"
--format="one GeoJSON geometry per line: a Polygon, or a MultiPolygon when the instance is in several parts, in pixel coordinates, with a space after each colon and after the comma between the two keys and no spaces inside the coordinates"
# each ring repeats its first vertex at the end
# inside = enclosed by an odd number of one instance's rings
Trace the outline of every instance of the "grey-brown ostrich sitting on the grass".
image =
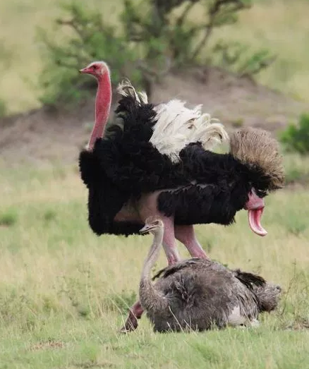
{"type": "Polygon", "coordinates": [[[140,232],[154,234],[140,279],[140,303],[155,332],[256,326],[259,313],[277,308],[278,285],[207,259],[193,258],[166,267],[153,284],[150,271],[159,256],[164,224],[151,217],[140,232]]]}

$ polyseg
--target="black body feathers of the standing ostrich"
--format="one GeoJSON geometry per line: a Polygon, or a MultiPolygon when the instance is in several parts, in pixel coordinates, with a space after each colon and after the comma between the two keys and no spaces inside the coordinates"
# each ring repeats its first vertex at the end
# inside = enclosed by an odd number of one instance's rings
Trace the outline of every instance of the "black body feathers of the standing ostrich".
{"type": "Polygon", "coordinates": [[[90,227],[96,234],[135,234],[143,226],[114,222],[129,199],[162,190],[158,209],[175,224],[231,224],[248,200],[252,186],[264,193],[257,168],[241,164],[231,154],[205,151],[200,143],[187,145],[173,164],[149,142],[156,112],[152,104],[123,97],[116,109],[122,121],[97,139],[92,152],[80,153],[81,177],[89,189],[90,227]]]}

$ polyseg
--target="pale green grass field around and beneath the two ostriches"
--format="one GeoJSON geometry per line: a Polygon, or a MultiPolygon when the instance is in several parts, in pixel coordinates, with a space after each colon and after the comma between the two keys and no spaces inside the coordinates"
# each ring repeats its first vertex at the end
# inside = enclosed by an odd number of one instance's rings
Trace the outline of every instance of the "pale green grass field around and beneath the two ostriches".
{"type": "MultiPolygon", "coordinates": [[[[309,162],[286,157],[286,167],[309,162]]],[[[260,238],[236,224],[198,226],[211,258],[281,284],[277,312],[257,329],[154,334],[146,317],[117,331],[135,301],[151,236],[97,237],[75,167],[1,163],[0,368],[267,368],[308,365],[308,190],[269,195],[260,238]],[[307,329],[307,330],[306,330],[307,329]]],[[[183,258],[187,257],[181,247],[183,258]]],[[[163,267],[164,255],[157,265],[163,267]]]]}

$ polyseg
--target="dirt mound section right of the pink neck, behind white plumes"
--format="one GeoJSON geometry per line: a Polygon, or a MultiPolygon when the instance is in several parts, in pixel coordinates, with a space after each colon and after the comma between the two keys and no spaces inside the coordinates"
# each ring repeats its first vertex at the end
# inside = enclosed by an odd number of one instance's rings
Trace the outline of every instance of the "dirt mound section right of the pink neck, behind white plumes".
{"type": "Polygon", "coordinates": [[[260,126],[277,131],[297,119],[309,104],[297,102],[248,78],[219,68],[193,68],[169,75],[154,92],[155,101],[178,97],[203,104],[205,111],[232,126],[260,126]]]}

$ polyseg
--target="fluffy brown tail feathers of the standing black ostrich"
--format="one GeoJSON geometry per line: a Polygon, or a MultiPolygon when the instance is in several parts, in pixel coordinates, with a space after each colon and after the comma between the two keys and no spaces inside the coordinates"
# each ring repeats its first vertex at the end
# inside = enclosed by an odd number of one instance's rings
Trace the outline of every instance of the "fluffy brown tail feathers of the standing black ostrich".
{"type": "Polygon", "coordinates": [[[267,178],[268,190],[284,187],[284,168],[279,143],[269,132],[259,128],[242,128],[230,138],[230,153],[249,169],[267,178]]]}

